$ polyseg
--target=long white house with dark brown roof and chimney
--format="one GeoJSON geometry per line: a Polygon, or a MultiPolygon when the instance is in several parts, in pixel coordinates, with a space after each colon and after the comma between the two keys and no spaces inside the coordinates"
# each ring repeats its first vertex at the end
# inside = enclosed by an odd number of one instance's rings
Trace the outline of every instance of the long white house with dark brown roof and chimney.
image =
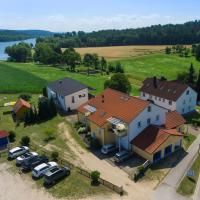
{"type": "Polygon", "coordinates": [[[147,78],[141,87],[140,98],[151,100],[171,111],[180,114],[193,112],[196,107],[197,93],[188,85],[178,81],[167,81],[162,79],[147,78]]]}

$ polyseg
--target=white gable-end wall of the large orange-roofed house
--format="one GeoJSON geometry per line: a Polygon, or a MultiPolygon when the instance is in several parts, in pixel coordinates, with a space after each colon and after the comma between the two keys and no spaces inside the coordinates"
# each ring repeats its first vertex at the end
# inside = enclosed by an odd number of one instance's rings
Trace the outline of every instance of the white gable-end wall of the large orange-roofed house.
{"type": "Polygon", "coordinates": [[[149,126],[147,124],[147,119],[150,118],[150,124],[153,125],[163,125],[165,123],[167,110],[154,104],[150,104],[150,106],[151,112],[148,112],[148,108],[146,108],[129,124],[127,136],[121,139],[121,145],[125,149],[129,150],[131,148],[131,140],[133,140],[137,135],[139,135],[145,128],[149,126]],[[156,120],[157,115],[159,115],[158,121],[156,120]],[[138,127],[138,122],[141,122],[141,127],[138,127]]]}

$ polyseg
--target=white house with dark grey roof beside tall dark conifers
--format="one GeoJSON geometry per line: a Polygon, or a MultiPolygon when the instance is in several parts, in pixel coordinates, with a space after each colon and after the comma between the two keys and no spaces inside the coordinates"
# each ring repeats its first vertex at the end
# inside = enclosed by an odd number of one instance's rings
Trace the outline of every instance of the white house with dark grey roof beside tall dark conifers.
{"type": "Polygon", "coordinates": [[[47,86],[47,95],[61,109],[70,111],[88,101],[88,90],[88,86],[71,78],[64,78],[50,83],[47,86]]]}

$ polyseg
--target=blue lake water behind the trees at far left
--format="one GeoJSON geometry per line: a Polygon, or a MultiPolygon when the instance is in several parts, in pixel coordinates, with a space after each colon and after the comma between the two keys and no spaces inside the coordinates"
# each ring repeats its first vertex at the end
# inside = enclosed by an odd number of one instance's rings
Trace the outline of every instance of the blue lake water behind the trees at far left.
{"type": "Polygon", "coordinates": [[[20,42],[26,42],[29,44],[33,44],[33,46],[35,46],[36,43],[36,39],[28,39],[28,40],[21,40],[21,41],[11,41],[11,42],[0,42],[0,60],[7,60],[8,55],[4,53],[6,47],[8,46],[12,46],[14,44],[18,44],[20,42]]]}

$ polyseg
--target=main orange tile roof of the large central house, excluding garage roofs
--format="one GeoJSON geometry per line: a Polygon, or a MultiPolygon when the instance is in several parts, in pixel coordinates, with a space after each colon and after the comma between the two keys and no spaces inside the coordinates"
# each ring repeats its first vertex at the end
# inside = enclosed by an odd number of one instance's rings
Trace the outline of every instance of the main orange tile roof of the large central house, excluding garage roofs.
{"type": "Polygon", "coordinates": [[[147,108],[149,104],[148,101],[108,88],[104,90],[102,94],[80,106],[78,111],[86,113],[85,105],[95,107],[97,111],[88,116],[88,119],[102,126],[110,117],[115,117],[126,123],[130,123],[138,114],[147,108]]]}

